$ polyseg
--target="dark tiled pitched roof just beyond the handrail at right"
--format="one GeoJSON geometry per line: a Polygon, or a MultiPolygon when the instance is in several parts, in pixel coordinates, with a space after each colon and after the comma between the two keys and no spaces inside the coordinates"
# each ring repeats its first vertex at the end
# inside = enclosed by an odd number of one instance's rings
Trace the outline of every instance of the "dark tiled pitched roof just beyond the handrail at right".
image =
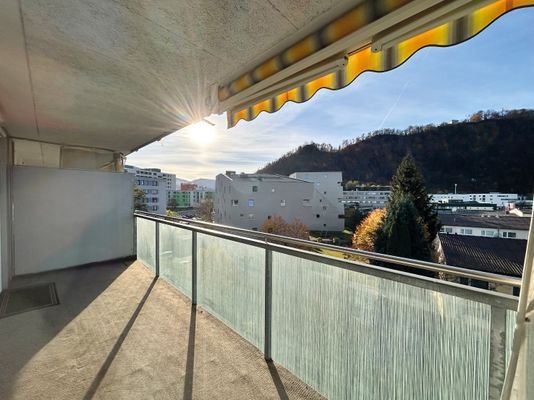
{"type": "MultiPolygon", "coordinates": [[[[444,264],[515,277],[521,277],[523,273],[526,240],[443,234],[438,238],[444,264]]],[[[491,288],[487,282],[474,279],[461,278],[460,282],[491,288]]],[[[509,288],[507,292],[510,292],[509,288]]]]}

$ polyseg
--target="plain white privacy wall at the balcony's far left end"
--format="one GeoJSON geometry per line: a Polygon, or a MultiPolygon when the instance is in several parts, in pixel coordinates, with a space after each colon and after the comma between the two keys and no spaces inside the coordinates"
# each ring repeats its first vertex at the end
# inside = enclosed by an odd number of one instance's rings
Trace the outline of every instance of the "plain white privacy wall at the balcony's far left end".
{"type": "Polygon", "coordinates": [[[130,174],[15,166],[15,275],[134,254],[130,174]]]}

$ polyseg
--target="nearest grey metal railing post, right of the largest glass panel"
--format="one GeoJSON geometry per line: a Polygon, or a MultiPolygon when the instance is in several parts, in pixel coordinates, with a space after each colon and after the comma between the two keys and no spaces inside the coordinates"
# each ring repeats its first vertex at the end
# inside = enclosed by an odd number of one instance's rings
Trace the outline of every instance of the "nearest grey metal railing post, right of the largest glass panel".
{"type": "Polygon", "coordinates": [[[489,400],[499,400],[506,372],[506,309],[491,306],[489,400]]]}

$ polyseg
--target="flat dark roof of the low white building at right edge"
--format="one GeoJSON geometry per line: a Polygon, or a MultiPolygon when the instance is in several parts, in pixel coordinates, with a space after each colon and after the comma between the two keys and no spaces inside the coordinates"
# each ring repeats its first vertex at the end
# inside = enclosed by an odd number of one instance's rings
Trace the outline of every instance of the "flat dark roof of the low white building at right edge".
{"type": "Polygon", "coordinates": [[[473,228],[515,229],[528,231],[530,218],[511,215],[440,214],[445,226],[469,226],[473,228]]]}

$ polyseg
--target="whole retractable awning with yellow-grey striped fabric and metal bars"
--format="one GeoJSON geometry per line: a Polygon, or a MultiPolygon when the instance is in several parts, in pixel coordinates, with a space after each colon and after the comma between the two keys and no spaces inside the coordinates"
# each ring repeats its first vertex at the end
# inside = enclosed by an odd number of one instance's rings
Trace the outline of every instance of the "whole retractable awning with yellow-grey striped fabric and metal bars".
{"type": "Polygon", "coordinates": [[[391,70],[427,46],[472,38],[534,0],[366,0],[282,53],[219,87],[228,127],[302,103],[319,89],[341,89],[366,71],[391,70]]]}

